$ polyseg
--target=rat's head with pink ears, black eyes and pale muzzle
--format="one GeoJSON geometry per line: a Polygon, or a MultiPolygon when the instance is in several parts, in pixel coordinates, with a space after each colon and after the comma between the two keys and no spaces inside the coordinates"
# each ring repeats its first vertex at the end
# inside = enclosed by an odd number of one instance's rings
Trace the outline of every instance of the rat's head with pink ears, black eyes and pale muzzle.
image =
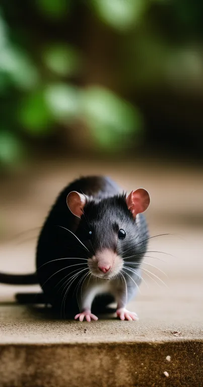
{"type": "Polygon", "coordinates": [[[123,259],[139,252],[142,232],[139,214],[146,211],[150,196],[144,188],[131,191],[128,196],[118,195],[95,199],[72,191],[67,206],[80,218],[78,235],[83,243],[90,240],[90,272],[110,279],[121,272],[123,259]]]}

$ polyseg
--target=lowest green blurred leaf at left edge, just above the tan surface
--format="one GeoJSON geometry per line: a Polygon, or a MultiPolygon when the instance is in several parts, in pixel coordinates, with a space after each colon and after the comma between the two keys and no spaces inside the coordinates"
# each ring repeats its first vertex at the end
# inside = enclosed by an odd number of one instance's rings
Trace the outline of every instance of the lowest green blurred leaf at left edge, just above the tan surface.
{"type": "Polygon", "coordinates": [[[0,161],[4,164],[16,163],[23,153],[22,145],[13,133],[0,131],[0,161]]]}

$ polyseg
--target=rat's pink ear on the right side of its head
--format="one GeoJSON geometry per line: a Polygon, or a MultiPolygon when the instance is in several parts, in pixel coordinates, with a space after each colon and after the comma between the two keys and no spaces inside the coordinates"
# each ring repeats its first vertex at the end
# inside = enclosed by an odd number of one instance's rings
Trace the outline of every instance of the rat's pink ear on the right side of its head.
{"type": "Polygon", "coordinates": [[[147,210],[150,205],[150,195],[144,188],[136,189],[131,191],[126,198],[128,210],[131,211],[133,218],[147,210]]]}

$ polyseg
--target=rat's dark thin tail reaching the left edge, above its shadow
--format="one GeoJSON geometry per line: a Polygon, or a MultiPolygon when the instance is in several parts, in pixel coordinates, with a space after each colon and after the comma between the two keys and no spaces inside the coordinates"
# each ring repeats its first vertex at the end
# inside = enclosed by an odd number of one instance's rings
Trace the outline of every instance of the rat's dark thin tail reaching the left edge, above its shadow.
{"type": "Polygon", "coordinates": [[[0,283],[8,285],[34,285],[38,284],[36,273],[8,274],[0,273],[0,283]]]}

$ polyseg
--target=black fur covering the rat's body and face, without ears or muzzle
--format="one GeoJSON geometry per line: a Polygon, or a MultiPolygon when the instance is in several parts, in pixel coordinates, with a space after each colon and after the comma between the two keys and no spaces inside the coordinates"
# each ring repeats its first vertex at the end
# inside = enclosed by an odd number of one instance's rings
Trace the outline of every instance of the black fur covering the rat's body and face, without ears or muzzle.
{"type": "MultiPolygon", "coordinates": [[[[63,283],[67,285],[65,281],[71,275],[80,268],[85,269],[85,259],[97,250],[110,248],[122,257],[137,254],[129,260],[141,262],[144,255],[141,252],[147,246],[148,231],[145,217],[142,214],[139,217],[140,227],[127,208],[125,195],[119,193],[118,186],[109,178],[81,178],[63,189],[46,219],[37,246],[37,275],[50,303],[61,305],[67,289],[63,287],[63,283]],[[73,190],[90,196],[79,221],[66,205],[66,197],[73,190]],[[123,240],[117,237],[120,228],[126,231],[126,238],[123,240]],[[67,230],[73,231],[89,251],[67,230]],[[69,259],[66,260],[65,257],[69,259]]],[[[70,307],[71,303],[74,312],[78,311],[77,292],[80,294],[82,281],[78,288],[77,286],[84,273],[75,277],[66,293],[65,305],[70,307]]],[[[133,276],[130,272],[128,274],[133,276]]]]}

